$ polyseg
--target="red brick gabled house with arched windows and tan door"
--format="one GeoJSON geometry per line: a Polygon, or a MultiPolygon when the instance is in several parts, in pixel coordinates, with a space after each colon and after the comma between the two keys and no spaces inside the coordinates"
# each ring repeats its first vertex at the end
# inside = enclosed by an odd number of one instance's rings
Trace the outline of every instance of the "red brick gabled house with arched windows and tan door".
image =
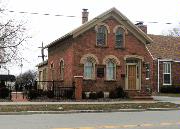
{"type": "Polygon", "coordinates": [[[46,46],[48,80],[77,83],[79,98],[82,92],[108,93],[119,86],[131,96],[156,89],[146,26],[134,25],[116,8],[90,21],[84,9],[82,23],[46,46]]]}

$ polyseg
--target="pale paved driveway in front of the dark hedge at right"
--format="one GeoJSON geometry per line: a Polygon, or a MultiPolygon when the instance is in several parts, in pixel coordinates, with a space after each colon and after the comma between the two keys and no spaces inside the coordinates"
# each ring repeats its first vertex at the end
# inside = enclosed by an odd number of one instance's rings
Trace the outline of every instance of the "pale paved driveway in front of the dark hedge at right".
{"type": "Polygon", "coordinates": [[[154,100],[161,102],[171,102],[175,104],[180,104],[180,97],[168,97],[168,96],[153,96],[154,100]]]}

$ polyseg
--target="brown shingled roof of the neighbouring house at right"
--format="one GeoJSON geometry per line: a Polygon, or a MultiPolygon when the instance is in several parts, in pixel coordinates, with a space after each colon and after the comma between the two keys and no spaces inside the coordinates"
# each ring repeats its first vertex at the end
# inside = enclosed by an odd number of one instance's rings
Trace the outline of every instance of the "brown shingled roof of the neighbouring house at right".
{"type": "Polygon", "coordinates": [[[180,61],[180,37],[149,35],[153,39],[147,47],[154,59],[170,59],[180,61]]]}

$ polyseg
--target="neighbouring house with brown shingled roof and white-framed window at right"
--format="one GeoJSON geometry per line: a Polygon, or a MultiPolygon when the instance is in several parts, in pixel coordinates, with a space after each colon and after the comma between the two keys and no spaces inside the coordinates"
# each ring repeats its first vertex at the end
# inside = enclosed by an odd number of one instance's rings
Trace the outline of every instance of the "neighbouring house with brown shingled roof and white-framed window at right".
{"type": "Polygon", "coordinates": [[[154,85],[180,86],[180,37],[149,35],[153,43],[148,45],[154,60],[154,85]]]}

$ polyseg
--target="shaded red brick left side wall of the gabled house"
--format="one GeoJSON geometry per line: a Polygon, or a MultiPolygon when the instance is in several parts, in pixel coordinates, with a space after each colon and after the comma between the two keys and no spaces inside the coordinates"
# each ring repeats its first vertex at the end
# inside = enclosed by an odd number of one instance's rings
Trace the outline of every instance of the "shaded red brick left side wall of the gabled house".
{"type": "Polygon", "coordinates": [[[50,65],[54,63],[55,80],[60,80],[60,59],[64,60],[64,84],[72,85],[73,48],[72,39],[67,39],[48,49],[48,80],[51,80],[50,65]]]}

